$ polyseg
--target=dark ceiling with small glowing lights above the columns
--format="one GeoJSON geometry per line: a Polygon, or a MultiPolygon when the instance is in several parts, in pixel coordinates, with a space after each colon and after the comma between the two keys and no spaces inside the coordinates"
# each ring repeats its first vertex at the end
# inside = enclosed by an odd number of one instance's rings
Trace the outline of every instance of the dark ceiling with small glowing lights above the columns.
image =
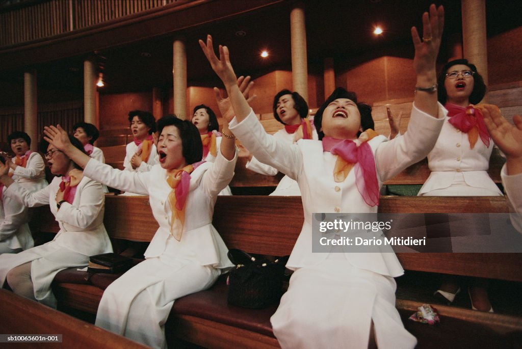
{"type": "MultiPolygon", "coordinates": [[[[241,0],[220,1],[223,6],[234,6],[235,1],[241,0]]],[[[334,57],[336,66],[349,65],[371,55],[412,57],[410,27],[420,28],[421,14],[431,1],[305,0],[303,3],[309,71],[321,72],[325,57],[334,57]],[[383,27],[381,37],[372,33],[375,25],[383,27]]],[[[460,1],[438,3],[446,10],[445,38],[460,32],[460,1]]],[[[180,34],[186,42],[189,85],[213,86],[218,83],[197,44],[197,39],[205,38],[207,33],[212,34],[215,43],[229,46],[238,75],[248,74],[255,78],[274,69],[291,69],[292,4],[292,1],[284,1],[182,32],[99,50],[97,54],[101,57],[106,83],[100,93],[172,87],[172,42],[174,35],[180,34]],[[240,36],[238,32],[244,35],[240,36]],[[270,53],[266,59],[259,56],[264,49],[270,53]]],[[[522,25],[520,13],[520,1],[488,0],[488,36],[522,25]]],[[[441,54],[440,59],[445,58],[441,54]]],[[[84,56],[70,57],[36,66],[39,103],[81,99],[84,59],[84,56]]],[[[0,105],[23,105],[22,69],[0,71],[0,105]]]]}

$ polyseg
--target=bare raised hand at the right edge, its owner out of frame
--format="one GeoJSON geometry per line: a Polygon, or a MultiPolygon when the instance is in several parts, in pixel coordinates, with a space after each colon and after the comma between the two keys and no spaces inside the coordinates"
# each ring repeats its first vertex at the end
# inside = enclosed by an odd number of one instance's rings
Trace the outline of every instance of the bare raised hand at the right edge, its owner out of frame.
{"type": "Polygon", "coordinates": [[[501,114],[500,109],[491,104],[479,105],[484,115],[484,123],[491,138],[506,155],[506,158],[518,158],[522,161],[522,117],[515,115],[513,124],[509,123],[501,114]]]}

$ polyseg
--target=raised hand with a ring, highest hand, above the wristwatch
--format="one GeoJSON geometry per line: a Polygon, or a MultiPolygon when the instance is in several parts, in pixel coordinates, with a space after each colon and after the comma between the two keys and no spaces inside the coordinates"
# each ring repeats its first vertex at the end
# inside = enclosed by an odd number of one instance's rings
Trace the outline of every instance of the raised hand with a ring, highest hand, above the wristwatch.
{"type": "Polygon", "coordinates": [[[444,29],[444,7],[430,6],[430,14],[422,14],[422,39],[417,28],[411,28],[411,39],[415,47],[413,66],[417,75],[428,73],[435,69],[438,49],[441,46],[442,31],[444,29]]]}

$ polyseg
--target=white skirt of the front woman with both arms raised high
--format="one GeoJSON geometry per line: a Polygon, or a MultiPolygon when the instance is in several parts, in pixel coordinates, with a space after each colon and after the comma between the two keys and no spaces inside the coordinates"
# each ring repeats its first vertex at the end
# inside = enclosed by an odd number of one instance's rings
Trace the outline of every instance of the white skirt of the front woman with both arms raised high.
{"type": "Polygon", "coordinates": [[[343,254],[296,270],[271,317],[282,349],[368,347],[371,323],[379,348],[417,344],[395,308],[393,278],[354,268],[343,254]]]}

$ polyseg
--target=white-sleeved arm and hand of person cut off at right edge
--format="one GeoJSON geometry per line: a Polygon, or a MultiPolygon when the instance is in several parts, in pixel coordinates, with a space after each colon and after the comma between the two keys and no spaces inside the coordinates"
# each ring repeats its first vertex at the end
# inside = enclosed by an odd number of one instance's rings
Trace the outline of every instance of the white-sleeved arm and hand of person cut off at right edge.
{"type": "Polygon", "coordinates": [[[491,138],[506,155],[506,163],[502,166],[500,175],[514,211],[511,222],[522,233],[522,116],[515,115],[513,125],[494,105],[484,105],[482,112],[491,138]]]}

